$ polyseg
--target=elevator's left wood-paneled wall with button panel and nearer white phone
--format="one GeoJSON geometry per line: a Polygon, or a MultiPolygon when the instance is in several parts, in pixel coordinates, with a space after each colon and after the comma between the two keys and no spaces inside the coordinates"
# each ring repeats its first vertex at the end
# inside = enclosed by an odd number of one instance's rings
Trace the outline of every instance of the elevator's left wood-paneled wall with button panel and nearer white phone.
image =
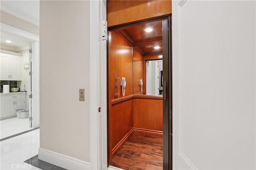
{"type": "Polygon", "coordinates": [[[116,31],[108,32],[108,142],[110,162],[120,142],[133,128],[133,59],[132,46],[116,31]],[[118,99],[114,99],[114,73],[118,74],[118,99]],[[126,78],[125,97],[120,80],[126,78]]]}

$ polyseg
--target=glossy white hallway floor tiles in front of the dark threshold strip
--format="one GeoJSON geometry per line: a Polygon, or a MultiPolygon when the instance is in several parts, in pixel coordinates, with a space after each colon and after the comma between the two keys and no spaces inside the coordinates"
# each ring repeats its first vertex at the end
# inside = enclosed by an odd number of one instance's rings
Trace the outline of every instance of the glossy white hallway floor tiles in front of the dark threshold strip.
{"type": "Polygon", "coordinates": [[[38,154],[39,129],[0,142],[1,170],[40,170],[25,160],[38,154]]]}

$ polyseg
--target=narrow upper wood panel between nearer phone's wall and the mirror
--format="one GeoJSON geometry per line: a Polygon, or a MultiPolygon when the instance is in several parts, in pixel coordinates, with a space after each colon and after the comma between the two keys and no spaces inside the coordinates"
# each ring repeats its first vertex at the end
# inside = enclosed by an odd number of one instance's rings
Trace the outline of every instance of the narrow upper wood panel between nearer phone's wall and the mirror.
{"type": "Polygon", "coordinates": [[[133,48],[133,94],[145,94],[146,89],[146,73],[145,73],[145,61],[143,56],[133,48]],[[143,86],[141,91],[140,79],[143,80],[143,86]]]}

